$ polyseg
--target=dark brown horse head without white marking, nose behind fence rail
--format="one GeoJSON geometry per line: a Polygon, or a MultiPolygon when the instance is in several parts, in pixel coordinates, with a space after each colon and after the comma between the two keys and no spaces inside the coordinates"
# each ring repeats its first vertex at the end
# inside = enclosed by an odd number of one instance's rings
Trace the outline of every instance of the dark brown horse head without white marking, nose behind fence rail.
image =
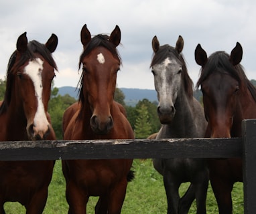
{"type": "Polygon", "coordinates": [[[196,63],[202,66],[197,87],[201,86],[203,94],[208,137],[231,137],[235,116],[241,118],[239,94],[245,92],[239,66],[242,56],[240,43],[237,43],[230,56],[224,51],[216,51],[207,58],[200,44],[195,49],[196,63]]]}

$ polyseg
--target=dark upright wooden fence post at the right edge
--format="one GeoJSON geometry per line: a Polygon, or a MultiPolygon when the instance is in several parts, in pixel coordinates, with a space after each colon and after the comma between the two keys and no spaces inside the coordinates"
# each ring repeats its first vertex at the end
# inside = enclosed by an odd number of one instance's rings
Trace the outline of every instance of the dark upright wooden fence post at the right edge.
{"type": "Polygon", "coordinates": [[[243,192],[245,214],[256,211],[256,120],[243,120],[243,192]]]}

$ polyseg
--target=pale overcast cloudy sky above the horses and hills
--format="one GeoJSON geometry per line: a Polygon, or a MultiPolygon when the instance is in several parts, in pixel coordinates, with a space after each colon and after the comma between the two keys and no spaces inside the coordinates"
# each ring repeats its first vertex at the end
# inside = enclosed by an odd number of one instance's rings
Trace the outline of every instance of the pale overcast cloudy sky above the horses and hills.
{"type": "Polygon", "coordinates": [[[123,66],[117,74],[118,88],[154,89],[149,68],[154,35],[160,45],[172,46],[182,35],[182,53],[194,84],[200,72],[194,60],[198,43],[210,56],[214,51],[230,54],[239,41],[247,78],[256,80],[255,11],[255,0],[1,0],[0,78],[5,78],[19,35],[26,31],[29,41],[46,43],[55,33],[58,47],[53,56],[58,72],[54,86],[76,87],[81,74],[80,30],[86,24],[91,35],[110,34],[119,25],[123,66]]]}

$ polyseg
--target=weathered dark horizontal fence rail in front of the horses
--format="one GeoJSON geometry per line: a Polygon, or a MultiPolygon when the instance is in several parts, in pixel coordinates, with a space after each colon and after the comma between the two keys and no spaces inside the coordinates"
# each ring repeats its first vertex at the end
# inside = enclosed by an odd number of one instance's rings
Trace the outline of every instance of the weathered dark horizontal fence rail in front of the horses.
{"type": "Polygon", "coordinates": [[[242,138],[0,142],[0,160],[241,157],[242,142],[242,138]]]}

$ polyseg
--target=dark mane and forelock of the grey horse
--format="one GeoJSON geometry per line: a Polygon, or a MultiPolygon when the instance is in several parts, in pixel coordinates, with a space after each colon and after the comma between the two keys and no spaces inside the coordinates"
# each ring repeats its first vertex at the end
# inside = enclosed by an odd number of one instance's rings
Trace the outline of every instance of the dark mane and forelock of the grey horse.
{"type": "Polygon", "coordinates": [[[151,61],[150,68],[152,68],[155,64],[159,64],[163,62],[167,57],[172,58],[173,55],[182,62],[182,84],[184,86],[186,95],[188,98],[193,98],[194,92],[194,84],[188,75],[188,68],[186,66],[186,62],[184,60],[183,54],[178,54],[178,51],[170,45],[162,45],[159,47],[159,50],[154,54],[153,59],[151,61]]]}

